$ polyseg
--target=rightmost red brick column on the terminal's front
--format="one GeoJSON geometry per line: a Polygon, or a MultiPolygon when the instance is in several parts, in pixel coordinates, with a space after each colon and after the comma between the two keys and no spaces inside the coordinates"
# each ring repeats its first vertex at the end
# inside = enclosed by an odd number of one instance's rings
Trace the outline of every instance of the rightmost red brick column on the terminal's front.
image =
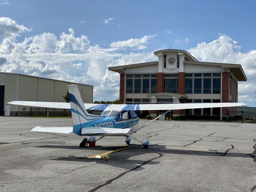
{"type": "MultiPolygon", "coordinates": [[[[222,103],[229,102],[229,73],[228,72],[222,72],[222,101],[221,102],[222,103]]],[[[228,107],[222,108],[222,116],[228,116],[228,107]]]]}

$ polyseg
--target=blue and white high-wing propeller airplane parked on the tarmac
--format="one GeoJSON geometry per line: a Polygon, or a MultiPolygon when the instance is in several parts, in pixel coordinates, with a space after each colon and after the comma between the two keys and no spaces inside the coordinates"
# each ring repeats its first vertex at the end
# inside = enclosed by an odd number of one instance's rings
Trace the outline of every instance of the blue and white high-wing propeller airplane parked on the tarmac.
{"type": "MultiPolygon", "coordinates": [[[[126,137],[126,144],[130,144],[131,139],[134,139],[142,143],[144,148],[148,148],[149,139],[144,138],[140,141],[133,137],[132,134],[136,133],[138,130],[150,124],[154,120],[157,120],[160,116],[170,112],[170,110],[246,106],[244,103],[84,104],[76,84],[68,85],[68,92],[70,103],[12,101],[8,102],[8,104],[62,109],[71,108],[73,127],[37,126],[31,131],[62,134],[69,134],[73,132],[79,136],[101,136],[101,138],[104,136],[124,136],[126,137]],[[90,114],[86,110],[102,110],[102,114],[90,114]],[[139,118],[134,112],[135,110],[168,111],[138,128],[139,118]]],[[[80,147],[85,147],[87,143],[87,138],[85,138],[80,143],[80,147]]]]}

